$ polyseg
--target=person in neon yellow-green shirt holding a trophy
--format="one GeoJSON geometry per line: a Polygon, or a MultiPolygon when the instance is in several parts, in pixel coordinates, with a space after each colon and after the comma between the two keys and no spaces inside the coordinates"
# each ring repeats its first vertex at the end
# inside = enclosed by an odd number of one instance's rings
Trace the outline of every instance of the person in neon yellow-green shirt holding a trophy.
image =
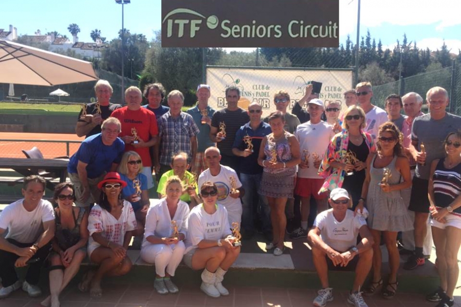
{"type": "Polygon", "coordinates": [[[187,164],[187,153],[180,152],[173,155],[171,160],[171,170],[168,172],[163,173],[162,177],[158,181],[158,198],[163,198],[166,196],[165,193],[165,184],[171,176],[178,176],[179,179],[182,181],[183,186],[185,189],[181,197],[179,198],[183,202],[189,204],[189,208],[192,210],[193,207],[200,204],[202,201],[200,197],[198,197],[198,187],[197,187],[197,178],[194,177],[192,173],[186,171],[189,169],[189,164],[187,164]]]}

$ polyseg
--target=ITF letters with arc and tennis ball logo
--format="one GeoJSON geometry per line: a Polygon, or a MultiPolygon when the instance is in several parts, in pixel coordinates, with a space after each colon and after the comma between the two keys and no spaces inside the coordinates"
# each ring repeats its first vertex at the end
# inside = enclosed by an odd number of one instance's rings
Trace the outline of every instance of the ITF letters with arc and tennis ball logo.
{"type": "Polygon", "coordinates": [[[173,36],[173,30],[175,29],[177,29],[177,37],[182,38],[184,36],[184,31],[188,30],[187,28],[189,28],[189,37],[193,38],[195,37],[195,33],[200,30],[200,25],[204,19],[207,19],[206,22],[209,29],[214,30],[218,26],[219,20],[215,15],[211,15],[206,18],[202,14],[186,8],[177,8],[169,12],[162,20],[162,23],[167,21],[168,38],[173,36]],[[190,14],[192,16],[200,17],[201,19],[174,19],[174,15],[177,14],[190,14]]]}

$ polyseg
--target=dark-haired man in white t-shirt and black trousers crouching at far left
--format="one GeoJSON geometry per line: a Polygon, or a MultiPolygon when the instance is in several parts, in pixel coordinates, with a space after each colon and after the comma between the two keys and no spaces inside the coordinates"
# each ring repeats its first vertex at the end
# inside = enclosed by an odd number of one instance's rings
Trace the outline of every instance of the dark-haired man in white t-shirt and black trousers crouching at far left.
{"type": "Polygon", "coordinates": [[[30,264],[22,289],[30,297],[41,295],[38,288],[40,269],[55,236],[55,215],[49,201],[43,200],[45,179],[32,175],[24,178],[23,199],[9,204],[0,214],[0,298],[21,288],[15,268],[30,264]],[[8,234],[3,234],[8,229],[8,234]]]}

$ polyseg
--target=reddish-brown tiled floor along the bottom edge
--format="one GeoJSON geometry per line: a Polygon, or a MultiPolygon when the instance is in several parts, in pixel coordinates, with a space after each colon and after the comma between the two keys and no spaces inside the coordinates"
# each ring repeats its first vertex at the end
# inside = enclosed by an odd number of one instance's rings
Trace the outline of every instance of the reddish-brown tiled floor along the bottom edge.
{"type": "MultiPolygon", "coordinates": [[[[210,298],[194,286],[182,286],[178,294],[159,295],[152,286],[133,284],[105,285],[103,297],[91,299],[70,287],[62,294],[61,307],[307,307],[316,296],[311,289],[294,288],[229,288],[230,295],[210,298]]],[[[346,307],[347,291],[333,292],[334,300],[327,307],[346,307]]],[[[44,297],[43,297],[44,298],[44,297]]],[[[39,307],[43,298],[29,299],[21,290],[0,300],[0,307],[39,307]]],[[[398,293],[392,300],[379,295],[365,297],[369,307],[434,307],[422,295],[398,293]]],[[[461,307],[461,297],[456,297],[456,307],[461,307]]]]}

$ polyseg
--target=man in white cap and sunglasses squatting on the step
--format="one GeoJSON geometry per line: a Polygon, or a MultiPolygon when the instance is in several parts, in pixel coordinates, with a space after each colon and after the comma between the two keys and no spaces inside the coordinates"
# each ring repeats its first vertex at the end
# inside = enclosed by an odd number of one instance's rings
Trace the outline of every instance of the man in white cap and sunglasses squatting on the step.
{"type": "Polygon", "coordinates": [[[308,234],[312,259],[322,283],[322,289],[318,291],[319,295],[313,304],[323,307],[333,300],[333,289],[328,284],[328,269],[350,270],[355,267],[354,284],[347,302],[355,307],[367,307],[359,290],[371,269],[371,232],[366,226],[364,215],[359,212],[355,215],[354,211],[347,210],[350,198],[345,189],[331,191],[328,202],[332,209],[317,215],[314,227],[308,234]],[[356,246],[358,234],[362,241],[356,246]]]}

